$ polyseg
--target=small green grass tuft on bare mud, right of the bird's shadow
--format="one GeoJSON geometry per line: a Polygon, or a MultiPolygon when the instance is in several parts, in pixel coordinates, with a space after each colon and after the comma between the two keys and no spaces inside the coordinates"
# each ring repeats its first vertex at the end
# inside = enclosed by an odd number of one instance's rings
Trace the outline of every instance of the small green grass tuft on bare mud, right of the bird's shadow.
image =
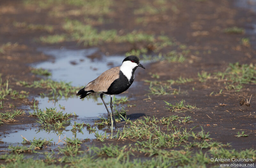
{"type": "Polygon", "coordinates": [[[183,99],[179,103],[175,103],[175,105],[171,104],[171,103],[168,103],[166,101],[164,101],[164,102],[166,103],[165,105],[169,106],[169,107],[165,107],[165,108],[172,111],[172,112],[173,111],[175,111],[175,112],[185,112],[185,111],[191,111],[191,109],[196,109],[196,105],[190,105],[190,104],[186,105],[186,104],[184,104],[185,100],[183,100],[183,99]]]}

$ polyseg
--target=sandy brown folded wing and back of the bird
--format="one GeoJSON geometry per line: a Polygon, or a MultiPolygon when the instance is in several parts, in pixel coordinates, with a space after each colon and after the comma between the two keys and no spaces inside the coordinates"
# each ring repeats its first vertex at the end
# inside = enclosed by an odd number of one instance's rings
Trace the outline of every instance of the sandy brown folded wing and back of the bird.
{"type": "Polygon", "coordinates": [[[111,83],[119,78],[120,66],[111,68],[102,73],[98,78],[89,82],[84,91],[107,92],[111,83]]]}

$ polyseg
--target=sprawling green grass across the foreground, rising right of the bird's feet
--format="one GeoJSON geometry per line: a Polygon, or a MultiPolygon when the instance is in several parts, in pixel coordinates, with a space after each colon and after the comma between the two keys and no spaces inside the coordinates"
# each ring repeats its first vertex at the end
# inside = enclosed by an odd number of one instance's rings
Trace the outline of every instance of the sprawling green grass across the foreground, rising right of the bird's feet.
{"type": "MultiPolygon", "coordinates": [[[[97,147],[84,144],[86,150],[81,148],[84,141],[77,138],[67,138],[66,145],[59,146],[54,151],[36,152],[35,149],[40,149],[41,143],[35,143],[34,147],[10,146],[9,151],[13,153],[0,156],[0,159],[7,162],[1,166],[62,167],[65,164],[68,167],[212,167],[219,163],[212,162],[211,157],[256,158],[255,149],[225,149],[230,147],[230,144],[212,141],[209,132],[204,131],[203,127],[201,131],[196,132],[196,127],[183,128],[184,123],[179,120],[186,118],[190,117],[168,116],[158,119],[146,116],[144,119],[127,121],[128,125],[117,130],[116,135],[107,144],[103,143],[97,147]],[[128,140],[129,143],[126,143],[128,140]],[[135,143],[130,143],[131,141],[135,143]],[[24,152],[33,152],[33,155],[25,158],[20,154],[24,152]],[[40,154],[40,159],[36,159],[37,153],[40,154]],[[141,156],[144,156],[143,160],[140,160],[141,156]]],[[[97,132],[95,136],[99,141],[110,138],[106,132],[97,132]]],[[[35,142],[39,140],[34,139],[35,142]]]]}

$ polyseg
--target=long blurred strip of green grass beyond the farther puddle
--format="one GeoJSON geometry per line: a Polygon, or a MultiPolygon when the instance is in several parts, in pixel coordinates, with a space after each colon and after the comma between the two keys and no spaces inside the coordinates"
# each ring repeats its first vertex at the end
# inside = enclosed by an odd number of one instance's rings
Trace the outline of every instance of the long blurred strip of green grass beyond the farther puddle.
{"type": "Polygon", "coordinates": [[[79,43],[84,43],[85,46],[94,46],[100,43],[109,42],[154,42],[155,38],[152,34],[145,34],[142,32],[132,31],[125,35],[118,35],[117,31],[102,30],[98,31],[91,25],[85,25],[78,20],[67,20],[63,25],[63,28],[68,34],[62,35],[49,35],[40,38],[40,41],[45,43],[58,43],[62,41],[73,41],[76,40],[79,43]]]}

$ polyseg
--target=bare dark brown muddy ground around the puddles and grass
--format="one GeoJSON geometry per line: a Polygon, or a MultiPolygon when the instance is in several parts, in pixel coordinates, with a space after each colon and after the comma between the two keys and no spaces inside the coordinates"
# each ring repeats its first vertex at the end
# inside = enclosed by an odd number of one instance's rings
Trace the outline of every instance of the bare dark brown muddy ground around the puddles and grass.
{"type": "MultiPolygon", "coordinates": [[[[165,11],[164,14],[148,16],[149,22],[146,25],[135,24],[138,17],[132,13],[137,4],[132,1],[130,5],[122,1],[116,1],[112,12],[104,19],[111,19],[109,23],[96,25],[98,30],[116,29],[117,31],[131,32],[132,30],[143,30],[148,33],[161,34],[173,37],[180,44],[185,44],[193,52],[199,54],[190,54],[184,63],[169,63],[168,61],[157,61],[144,65],[146,70],[138,68],[135,72],[135,80],[138,81],[135,87],[128,89],[124,94],[132,98],[129,104],[136,104],[135,107],[128,108],[127,114],[131,119],[143,118],[143,116],[155,116],[157,118],[170,115],[191,116],[193,122],[184,124],[184,128],[194,126],[203,126],[206,132],[210,132],[213,140],[224,144],[231,143],[231,149],[250,149],[256,148],[256,85],[244,84],[243,88],[236,92],[226,90],[223,82],[215,79],[200,82],[197,73],[206,71],[216,73],[225,71],[229,63],[239,62],[240,64],[256,64],[256,51],[253,45],[245,46],[241,43],[242,38],[250,37],[255,40],[255,34],[227,34],[223,32],[227,27],[242,27],[246,30],[252,30],[250,26],[255,22],[256,14],[247,9],[242,9],[234,5],[235,1],[215,0],[215,1],[185,1],[177,3],[178,11],[165,11]],[[185,91],[179,95],[149,95],[148,83],[144,80],[152,79],[150,73],[160,76],[158,80],[193,78],[194,81],[184,84],[174,84],[173,88],[185,91]],[[219,93],[223,89],[222,94],[219,93]],[[212,92],[214,94],[210,95],[212,92]],[[240,105],[239,101],[243,98],[249,99],[250,106],[240,105]],[[147,100],[146,100],[147,99],[147,100]],[[175,103],[181,99],[189,104],[196,104],[197,109],[186,112],[171,112],[165,107],[164,101],[175,103]],[[220,103],[225,105],[220,105],[220,103]],[[235,137],[238,131],[244,131],[247,137],[235,137]]],[[[67,6],[68,10],[68,6],[67,6]]],[[[6,47],[4,52],[0,52],[0,67],[2,79],[9,79],[10,88],[17,91],[25,90],[29,92],[28,98],[11,99],[10,95],[4,99],[4,106],[1,112],[12,109],[20,109],[22,105],[32,105],[34,96],[39,92],[44,92],[40,88],[26,88],[16,85],[17,80],[32,82],[40,79],[30,73],[30,64],[53,59],[46,56],[36,49],[41,46],[51,46],[60,48],[66,46],[69,48],[82,49],[88,46],[77,45],[77,41],[60,42],[57,44],[45,44],[35,41],[36,38],[49,34],[45,30],[28,30],[15,27],[14,21],[28,22],[36,24],[54,25],[54,30],[50,34],[60,34],[64,32],[61,28],[61,21],[48,17],[49,9],[40,9],[34,5],[24,7],[22,1],[1,1],[0,2],[0,45],[11,42],[12,45],[6,47]],[[17,43],[17,44],[15,44],[17,43]],[[9,108],[9,104],[15,108],[9,108]]],[[[72,16],[74,19],[83,19],[79,16],[72,16]]],[[[143,43],[102,43],[97,45],[101,53],[106,55],[124,55],[132,49],[139,48],[143,43]]],[[[167,53],[173,48],[164,48],[163,53],[167,53]]],[[[91,56],[92,58],[97,55],[91,56]]],[[[80,73],[80,72],[77,72],[80,73]]],[[[85,77],[82,77],[85,80],[85,77]]],[[[79,79],[80,80],[80,79],[79,79]]],[[[89,81],[88,81],[89,82],[89,81]]],[[[85,81],[86,83],[86,81],[85,81]]],[[[14,123],[4,123],[0,126],[0,138],[8,132],[18,129],[27,129],[21,124],[32,124],[36,118],[28,117],[28,114],[15,118],[14,123]]],[[[119,124],[123,126],[124,123],[119,124]]],[[[200,127],[195,130],[201,130],[200,127]]],[[[111,143],[112,141],[106,141],[111,143]]],[[[128,141],[132,143],[131,141],[128,141]]],[[[120,140],[116,143],[127,143],[120,140]]],[[[93,140],[90,143],[100,144],[93,140]]],[[[0,145],[1,146],[1,145],[0,145]]]]}

